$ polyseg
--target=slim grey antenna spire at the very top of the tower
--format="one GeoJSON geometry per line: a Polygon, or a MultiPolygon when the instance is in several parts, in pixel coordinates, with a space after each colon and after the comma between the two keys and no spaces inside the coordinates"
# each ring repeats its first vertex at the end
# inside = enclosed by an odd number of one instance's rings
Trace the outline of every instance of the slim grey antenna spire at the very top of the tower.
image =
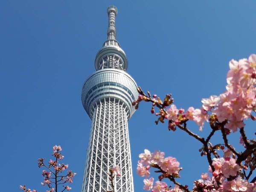
{"type": "Polygon", "coordinates": [[[108,7],[108,40],[116,40],[116,6],[108,7]]]}

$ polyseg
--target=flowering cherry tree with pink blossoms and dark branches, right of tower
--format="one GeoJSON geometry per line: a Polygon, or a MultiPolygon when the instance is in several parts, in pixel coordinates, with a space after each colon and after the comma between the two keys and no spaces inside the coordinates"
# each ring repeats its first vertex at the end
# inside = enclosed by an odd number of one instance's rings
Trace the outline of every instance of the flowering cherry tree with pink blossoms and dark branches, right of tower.
{"type": "MultiPolygon", "coordinates": [[[[167,94],[162,101],[159,97],[151,98],[149,92],[147,96],[138,87],[142,99],[137,99],[135,103],[151,102],[154,113],[159,108],[159,112],[155,113],[158,116],[156,124],[164,123],[168,119],[169,131],[184,131],[201,143],[199,152],[201,156],[207,157],[208,170],[212,177],[203,173],[201,179],[194,181],[192,192],[256,192],[256,177],[253,174],[256,142],[250,139],[251,135],[246,136],[245,131],[245,120],[256,120],[256,55],[238,61],[232,59],[229,67],[224,92],[203,98],[201,108],[189,107],[186,112],[183,108],[177,109],[171,94],[167,94]],[[205,129],[209,134],[201,136],[194,133],[188,127],[188,121],[197,123],[200,131],[209,122],[209,128],[205,129]],[[243,151],[237,151],[230,143],[233,132],[238,130],[241,135],[239,143],[244,146],[243,151]],[[221,141],[212,142],[213,135],[221,136],[221,141]],[[254,178],[251,178],[252,175],[254,178]]],[[[159,181],[155,182],[152,192],[191,192],[187,185],[176,180],[181,176],[179,166],[180,163],[174,157],[164,157],[164,153],[160,151],[151,154],[147,150],[140,154],[137,172],[141,176],[148,176],[150,167],[157,169],[155,172],[160,174],[159,181]],[[162,182],[163,179],[169,179],[175,187],[167,188],[167,184],[162,182]]],[[[151,189],[153,177],[151,178],[152,180],[144,180],[144,189],[151,189]]]]}

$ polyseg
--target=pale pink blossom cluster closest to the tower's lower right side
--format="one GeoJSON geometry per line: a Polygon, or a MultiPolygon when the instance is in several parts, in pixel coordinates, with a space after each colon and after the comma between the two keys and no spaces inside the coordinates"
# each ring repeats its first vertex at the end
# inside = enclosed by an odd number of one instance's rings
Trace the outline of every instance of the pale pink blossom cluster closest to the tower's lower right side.
{"type": "MultiPolygon", "coordinates": [[[[151,167],[158,168],[163,174],[172,177],[179,177],[181,170],[180,163],[174,157],[164,157],[164,152],[154,151],[151,153],[148,149],[144,150],[144,153],[139,155],[140,160],[137,165],[137,174],[141,177],[149,177],[149,169],[151,167]]],[[[163,181],[156,181],[154,186],[154,178],[144,179],[144,188],[152,192],[169,192],[167,184],[163,181]]]]}

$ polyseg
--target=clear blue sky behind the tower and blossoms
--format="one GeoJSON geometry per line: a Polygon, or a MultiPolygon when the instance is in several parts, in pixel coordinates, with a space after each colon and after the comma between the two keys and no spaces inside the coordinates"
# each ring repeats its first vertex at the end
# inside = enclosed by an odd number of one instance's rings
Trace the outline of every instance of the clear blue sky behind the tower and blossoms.
{"type": "MultiPolygon", "coordinates": [[[[77,173],[73,191],[81,190],[91,124],[81,88],[95,71],[112,4],[119,9],[117,40],[128,56],[128,73],[144,90],[172,93],[178,107],[198,108],[201,98],[223,92],[229,60],[256,53],[255,0],[2,1],[1,191],[19,191],[20,184],[43,191],[37,158],[50,157],[55,144],[77,173]]],[[[183,167],[179,181],[191,186],[208,168],[201,145],[167,131],[167,124],[154,125],[150,108],[144,103],[129,121],[135,191],[143,191],[135,170],[144,148],[176,157],[183,167]]],[[[198,126],[189,126],[198,133],[198,126]]],[[[246,130],[251,137],[253,128],[246,130]]],[[[207,133],[208,126],[201,134],[207,133]]],[[[238,134],[230,140],[240,149],[238,134]]]]}

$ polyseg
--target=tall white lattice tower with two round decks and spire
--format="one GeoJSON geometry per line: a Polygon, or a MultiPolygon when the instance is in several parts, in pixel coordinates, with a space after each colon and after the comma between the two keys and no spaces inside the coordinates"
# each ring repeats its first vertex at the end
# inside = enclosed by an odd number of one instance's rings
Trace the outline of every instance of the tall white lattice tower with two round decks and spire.
{"type": "Polygon", "coordinates": [[[116,7],[108,7],[108,39],[96,54],[96,72],[82,89],[82,104],[92,119],[82,192],[113,190],[108,172],[115,165],[121,168],[115,192],[134,192],[128,120],[138,93],[136,82],[126,73],[125,52],[116,41],[116,15],[116,7]]]}

